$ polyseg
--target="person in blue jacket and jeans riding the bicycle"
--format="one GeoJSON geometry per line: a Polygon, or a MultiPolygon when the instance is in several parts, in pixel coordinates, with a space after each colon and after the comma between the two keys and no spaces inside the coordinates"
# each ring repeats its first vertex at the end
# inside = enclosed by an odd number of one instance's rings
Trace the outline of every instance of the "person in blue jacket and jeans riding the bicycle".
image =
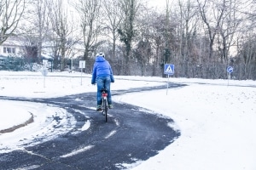
{"type": "Polygon", "coordinates": [[[96,60],[93,65],[91,84],[97,84],[97,107],[96,111],[102,111],[102,93],[101,89],[106,88],[108,90],[108,108],[112,109],[112,99],[110,91],[110,83],[114,82],[113,71],[108,60],[105,59],[104,53],[96,54],[96,60]]]}

